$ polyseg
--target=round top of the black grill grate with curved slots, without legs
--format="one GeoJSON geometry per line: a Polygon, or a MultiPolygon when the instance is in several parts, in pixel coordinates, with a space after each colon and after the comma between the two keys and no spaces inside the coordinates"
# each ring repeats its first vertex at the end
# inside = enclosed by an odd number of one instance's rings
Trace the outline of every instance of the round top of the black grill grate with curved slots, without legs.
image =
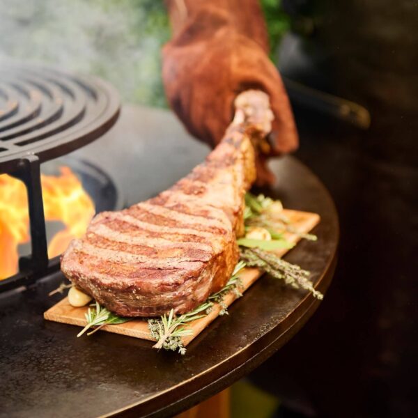
{"type": "Polygon", "coordinates": [[[118,112],[118,93],[98,78],[0,62],[0,173],[29,154],[44,162],[88,144],[118,112]]]}

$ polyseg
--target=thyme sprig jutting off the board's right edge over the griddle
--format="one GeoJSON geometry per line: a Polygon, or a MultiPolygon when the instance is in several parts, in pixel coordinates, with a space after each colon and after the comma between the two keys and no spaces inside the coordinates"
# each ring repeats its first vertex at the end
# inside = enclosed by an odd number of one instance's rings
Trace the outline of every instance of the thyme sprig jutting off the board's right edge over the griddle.
{"type": "Polygon", "coordinates": [[[310,273],[307,270],[302,270],[299,265],[288,263],[279,256],[259,248],[241,248],[240,258],[249,267],[260,268],[272,277],[284,280],[286,284],[294,288],[304,288],[319,300],[323,299],[323,294],[316,291],[309,280],[310,273]]]}

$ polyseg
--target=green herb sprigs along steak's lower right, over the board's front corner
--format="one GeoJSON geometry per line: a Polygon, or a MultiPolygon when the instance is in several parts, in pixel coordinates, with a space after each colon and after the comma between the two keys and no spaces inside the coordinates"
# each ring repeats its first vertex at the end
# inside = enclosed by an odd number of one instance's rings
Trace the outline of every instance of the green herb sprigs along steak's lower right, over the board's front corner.
{"type": "Polygon", "coordinates": [[[237,297],[242,296],[242,284],[238,276],[238,272],[245,267],[245,263],[240,261],[235,265],[232,276],[226,285],[217,293],[213,293],[208,297],[206,302],[203,302],[193,311],[187,312],[180,316],[174,315],[174,310],[171,309],[169,315],[162,315],[160,318],[150,318],[148,320],[148,328],[150,334],[157,341],[153,348],[164,348],[164,350],[176,351],[181,355],[185,355],[186,348],[181,339],[182,336],[189,336],[193,334],[191,329],[187,329],[187,323],[193,320],[203,318],[210,313],[215,303],[221,305],[222,309],[219,315],[227,314],[226,304],[224,304],[224,296],[231,291],[235,292],[237,297]]]}

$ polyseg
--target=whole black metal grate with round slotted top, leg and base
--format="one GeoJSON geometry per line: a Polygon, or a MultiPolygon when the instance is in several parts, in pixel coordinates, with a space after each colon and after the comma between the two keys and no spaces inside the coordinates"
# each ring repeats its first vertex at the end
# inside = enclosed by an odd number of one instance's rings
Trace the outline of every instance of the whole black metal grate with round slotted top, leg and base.
{"type": "Polygon", "coordinates": [[[98,79],[38,65],[0,61],[0,174],[23,181],[29,203],[31,255],[0,291],[32,284],[59,267],[48,260],[40,163],[98,139],[116,122],[118,93],[98,79]]]}

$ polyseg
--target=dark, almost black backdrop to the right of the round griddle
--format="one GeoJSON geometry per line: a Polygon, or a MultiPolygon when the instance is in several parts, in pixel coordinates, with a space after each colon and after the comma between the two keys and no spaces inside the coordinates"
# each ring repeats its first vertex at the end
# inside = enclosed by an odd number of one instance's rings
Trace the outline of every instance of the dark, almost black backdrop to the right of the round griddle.
{"type": "Polygon", "coordinates": [[[282,74],[362,104],[371,126],[295,108],[296,155],[339,211],[339,264],[317,314],[254,379],[305,415],[417,416],[418,2],[284,7],[282,74]]]}

